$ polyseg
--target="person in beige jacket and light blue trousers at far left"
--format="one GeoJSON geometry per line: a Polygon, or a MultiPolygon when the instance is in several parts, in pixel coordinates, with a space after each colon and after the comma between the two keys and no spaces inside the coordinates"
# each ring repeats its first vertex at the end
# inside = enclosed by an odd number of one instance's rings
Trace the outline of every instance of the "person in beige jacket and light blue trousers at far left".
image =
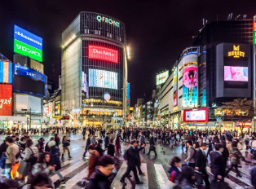
{"type": "Polygon", "coordinates": [[[17,155],[20,154],[20,149],[15,143],[13,143],[13,139],[11,137],[7,137],[5,139],[5,143],[8,146],[6,152],[7,160],[5,165],[5,174],[6,178],[9,179],[11,178],[11,165],[20,162],[17,158],[17,155]]]}

